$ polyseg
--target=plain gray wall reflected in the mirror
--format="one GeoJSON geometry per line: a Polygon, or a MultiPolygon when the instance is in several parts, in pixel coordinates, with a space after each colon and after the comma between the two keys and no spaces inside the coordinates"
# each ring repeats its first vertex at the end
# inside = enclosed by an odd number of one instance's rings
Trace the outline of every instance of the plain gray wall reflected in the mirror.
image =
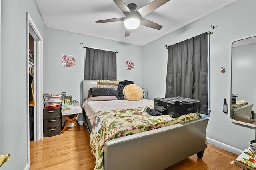
{"type": "Polygon", "coordinates": [[[253,104],[255,113],[256,43],[232,48],[232,94],[253,104]]]}

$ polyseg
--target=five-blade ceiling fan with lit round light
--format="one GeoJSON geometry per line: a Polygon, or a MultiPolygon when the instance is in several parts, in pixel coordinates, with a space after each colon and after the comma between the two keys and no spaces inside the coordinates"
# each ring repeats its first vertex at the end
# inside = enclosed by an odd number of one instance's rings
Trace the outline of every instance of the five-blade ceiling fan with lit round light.
{"type": "Polygon", "coordinates": [[[124,21],[124,25],[125,25],[124,36],[127,37],[130,35],[132,29],[136,29],[139,25],[144,25],[146,27],[160,30],[162,28],[161,25],[158,25],[157,23],[154,23],[153,21],[147,20],[142,17],[156,10],[157,8],[159,8],[160,6],[162,6],[163,4],[165,4],[170,0],[154,0],[138,10],[136,10],[137,5],[134,3],[128,4],[128,6],[126,6],[126,4],[122,0],[113,0],[113,1],[116,3],[118,8],[124,13],[126,17],[98,20],[95,22],[106,23],[106,22],[124,21]]]}

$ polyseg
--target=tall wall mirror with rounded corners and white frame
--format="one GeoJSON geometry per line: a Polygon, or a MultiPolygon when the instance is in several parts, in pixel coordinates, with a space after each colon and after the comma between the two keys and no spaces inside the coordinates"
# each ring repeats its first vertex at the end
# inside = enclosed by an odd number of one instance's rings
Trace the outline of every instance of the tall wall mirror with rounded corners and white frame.
{"type": "Polygon", "coordinates": [[[232,41],[230,49],[230,118],[234,123],[255,127],[256,35],[232,41]]]}

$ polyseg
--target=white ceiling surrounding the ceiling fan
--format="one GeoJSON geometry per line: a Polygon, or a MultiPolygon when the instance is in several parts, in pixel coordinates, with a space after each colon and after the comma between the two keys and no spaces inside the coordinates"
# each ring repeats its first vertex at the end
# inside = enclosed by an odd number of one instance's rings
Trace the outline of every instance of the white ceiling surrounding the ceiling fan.
{"type": "MultiPolygon", "coordinates": [[[[137,10],[152,0],[124,0],[135,3],[137,10]]],[[[96,20],[125,17],[112,0],[36,0],[46,27],[111,39],[135,45],[146,45],[172,31],[223,8],[235,0],[171,0],[144,18],[162,29],[140,25],[124,36],[123,21],[96,23],[96,20]]]]}

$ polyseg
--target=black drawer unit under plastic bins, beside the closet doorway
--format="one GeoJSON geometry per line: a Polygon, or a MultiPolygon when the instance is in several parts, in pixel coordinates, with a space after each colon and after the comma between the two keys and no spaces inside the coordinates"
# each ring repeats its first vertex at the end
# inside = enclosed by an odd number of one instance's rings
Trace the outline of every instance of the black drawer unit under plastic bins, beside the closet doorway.
{"type": "Polygon", "coordinates": [[[43,109],[44,137],[61,134],[61,107],[55,109],[43,109]]]}

